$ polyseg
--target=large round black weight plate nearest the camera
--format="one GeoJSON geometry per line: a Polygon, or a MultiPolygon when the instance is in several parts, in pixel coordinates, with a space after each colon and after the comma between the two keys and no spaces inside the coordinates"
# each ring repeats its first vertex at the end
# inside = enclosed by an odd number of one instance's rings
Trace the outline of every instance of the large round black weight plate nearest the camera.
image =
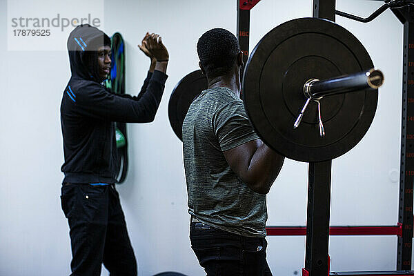
{"type": "Polygon", "coordinates": [[[339,157],[371,126],[377,90],[324,97],[320,103],[326,135],[321,138],[313,101],[293,129],[306,100],[304,83],[371,68],[373,62],[362,43],[341,26],[316,18],[283,23],[259,41],[248,59],[242,95],[250,122],[268,146],[290,159],[339,157]]]}

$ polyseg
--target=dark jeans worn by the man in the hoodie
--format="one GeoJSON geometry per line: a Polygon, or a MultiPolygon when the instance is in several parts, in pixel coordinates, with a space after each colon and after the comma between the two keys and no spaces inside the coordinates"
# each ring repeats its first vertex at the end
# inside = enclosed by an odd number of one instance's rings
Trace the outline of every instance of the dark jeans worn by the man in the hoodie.
{"type": "Polygon", "coordinates": [[[73,276],[136,276],[137,262],[115,186],[64,184],[61,207],[68,218],[73,276]]]}

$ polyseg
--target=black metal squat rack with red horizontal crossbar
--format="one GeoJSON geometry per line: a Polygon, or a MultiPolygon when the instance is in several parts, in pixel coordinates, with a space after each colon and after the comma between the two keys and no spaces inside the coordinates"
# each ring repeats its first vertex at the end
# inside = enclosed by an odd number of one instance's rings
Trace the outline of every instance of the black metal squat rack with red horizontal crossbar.
{"type": "MultiPolygon", "coordinates": [[[[237,0],[237,39],[244,51],[244,63],[249,53],[250,10],[260,0],[237,0]]],[[[375,19],[391,8],[404,24],[404,59],[402,93],[402,142],[400,174],[400,207],[397,226],[331,226],[329,227],[332,161],[312,162],[308,170],[307,226],[266,227],[267,235],[306,235],[306,259],[303,276],[326,275],[414,275],[411,271],[413,239],[414,181],[414,7],[411,0],[388,0],[370,17],[364,19],[335,10],[335,0],[313,0],[313,17],[335,21],[335,14],[361,22],[375,19]],[[402,5],[397,5],[400,3],[402,5]],[[407,4],[407,5],[406,5],[407,4]],[[397,270],[335,273],[329,271],[329,235],[397,235],[397,270]]]]}

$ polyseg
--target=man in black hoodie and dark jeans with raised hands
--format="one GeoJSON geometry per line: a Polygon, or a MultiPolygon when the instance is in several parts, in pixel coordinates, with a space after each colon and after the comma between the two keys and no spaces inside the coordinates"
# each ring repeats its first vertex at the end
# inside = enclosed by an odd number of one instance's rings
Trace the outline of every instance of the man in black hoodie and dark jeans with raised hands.
{"type": "Polygon", "coordinates": [[[151,59],[137,97],[103,87],[111,66],[110,38],[88,24],[68,38],[72,77],[63,90],[61,128],[65,177],[61,207],[68,218],[72,275],[137,275],[137,262],[115,190],[119,165],[114,122],[147,123],[155,118],[168,51],[157,34],[146,34],[139,48],[151,59]]]}

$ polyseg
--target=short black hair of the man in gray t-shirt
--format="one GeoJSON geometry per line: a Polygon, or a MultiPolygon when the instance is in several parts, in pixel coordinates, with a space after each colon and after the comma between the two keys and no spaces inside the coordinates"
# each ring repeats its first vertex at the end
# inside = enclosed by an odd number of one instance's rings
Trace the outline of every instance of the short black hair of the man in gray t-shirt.
{"type": "Polygon", "coordinates": [[[208,30],[199,38],[197,53],[209,78],[226,75],[240,51],[234,34],[222,28],[208,30]]]}

